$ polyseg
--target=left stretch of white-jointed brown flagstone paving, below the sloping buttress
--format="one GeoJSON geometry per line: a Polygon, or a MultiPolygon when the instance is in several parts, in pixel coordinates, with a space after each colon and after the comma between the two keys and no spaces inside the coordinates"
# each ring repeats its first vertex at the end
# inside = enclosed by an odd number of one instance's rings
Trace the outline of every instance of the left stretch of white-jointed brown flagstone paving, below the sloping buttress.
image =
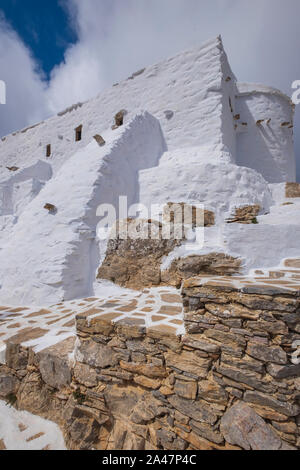
{"type": "Polygon", "coordinates": [[[172,287],[119,290],[117,296],[91,297],[47,308],[0,306],[0,363],[4,363],[6,342],[31,346],[36,352],[75,336],[75,317],[103,316],[115,323],[123,321],[183,334],[182,300],[172,287]]]}

